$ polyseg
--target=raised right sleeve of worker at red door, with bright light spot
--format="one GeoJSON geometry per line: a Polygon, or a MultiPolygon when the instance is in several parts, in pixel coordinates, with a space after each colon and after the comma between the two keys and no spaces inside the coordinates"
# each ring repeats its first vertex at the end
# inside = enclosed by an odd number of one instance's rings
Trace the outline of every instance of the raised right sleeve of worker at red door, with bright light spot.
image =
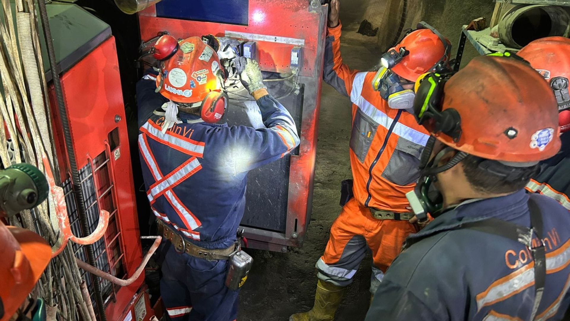
{"type": "Polygon", "coordinates": [[[299,135],[291,114],[265,89],[253,92],[259,106],[264,127],[225,127],[222,163],[231,174],[237,175],[271,163],[299,146],[299,135]]]}

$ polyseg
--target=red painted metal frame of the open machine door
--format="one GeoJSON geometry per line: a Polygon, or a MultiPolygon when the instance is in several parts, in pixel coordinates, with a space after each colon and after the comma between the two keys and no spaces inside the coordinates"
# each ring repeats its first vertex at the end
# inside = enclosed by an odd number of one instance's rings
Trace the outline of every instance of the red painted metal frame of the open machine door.
{"type": "MultiPolygon", "coordinates": [[[[283,251],[284,246],[302,246],[310,219],[328,6],[311,8],[309,3],[307,0],[250,0],[247,26],[160,18],[156,17],[154,6],[139,13],[141,39],[168,30],[176,38],[205,34],[224,36],[230,31],[304,41],[301,45],[303,63],[299,69],[299,82],[305,84],[301,142],[299,155],[291,156],[286,231],[283,234],[245,228],[250,246],[255,248],[283,251]]],[[[291,73],[291,49],[298,45],[255,42],[262,70],[291,73]]]]}

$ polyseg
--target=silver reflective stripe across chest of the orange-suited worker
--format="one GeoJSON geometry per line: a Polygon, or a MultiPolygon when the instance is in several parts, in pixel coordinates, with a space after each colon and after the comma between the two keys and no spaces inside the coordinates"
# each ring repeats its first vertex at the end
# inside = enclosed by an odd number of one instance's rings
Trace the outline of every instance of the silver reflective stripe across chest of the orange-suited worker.
{"type": "MultiPolygon", "coordinates": [[[[394,119],[388,117],[388,115],[382,113],[382,111],[378,110],[374,105],[369,103],[364,97],[361,97],[355,104],[359,107],[364,114],[368,117],[372,118],[374,122],[380,124],[380,126],[384,127],[385,129],[389,129],[392,126],[392,122],[394,119]]],[[[414,142],[421,146],[426,146],[427,139],[429,139],[429,135],[421,133],[415,129],[412,129],[402,123],[396,123],[392,133],[408,139],[408,141],[414,142]]]]}

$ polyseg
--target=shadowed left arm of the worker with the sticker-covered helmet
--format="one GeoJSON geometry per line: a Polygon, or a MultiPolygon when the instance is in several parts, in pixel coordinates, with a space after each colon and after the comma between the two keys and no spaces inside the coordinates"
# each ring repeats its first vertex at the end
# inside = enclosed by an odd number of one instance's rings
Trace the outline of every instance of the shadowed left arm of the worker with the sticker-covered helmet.
{"type": "Polygon", "coordinates": [[[161,94],[155,93],[156,76],[158,71],[148,69],[145,71],[143,78],[137,82],[137,111],[139,118],[139,127],[148,121],[152,112],[158,109],[162,104],[168,102],[161,94]]]}

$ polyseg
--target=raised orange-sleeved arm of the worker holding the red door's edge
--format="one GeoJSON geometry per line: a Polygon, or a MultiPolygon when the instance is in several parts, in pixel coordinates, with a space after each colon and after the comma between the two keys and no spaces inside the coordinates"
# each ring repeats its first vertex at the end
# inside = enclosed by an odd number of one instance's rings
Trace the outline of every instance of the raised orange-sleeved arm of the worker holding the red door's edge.
{"type": "Polygon", "coordinates": [[[331,1],[331,13],[328,20],[328,34],[324,47],[323,79],[339,93],[350,97],[352,83],[359,72],[351,70],[343,63],[340,55],[340,29],[338,0],[331,1]]]}

